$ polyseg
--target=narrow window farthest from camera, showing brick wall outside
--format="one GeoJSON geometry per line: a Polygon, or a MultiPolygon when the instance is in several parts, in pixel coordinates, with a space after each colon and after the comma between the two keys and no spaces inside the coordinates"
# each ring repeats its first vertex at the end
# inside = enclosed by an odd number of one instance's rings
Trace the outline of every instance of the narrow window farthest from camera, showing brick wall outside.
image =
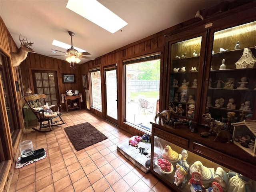
{"type": "Polygon", "coordinates": [[[90,70],[92,83],[92,107],[102,110],[100,69],[90,70]]]}

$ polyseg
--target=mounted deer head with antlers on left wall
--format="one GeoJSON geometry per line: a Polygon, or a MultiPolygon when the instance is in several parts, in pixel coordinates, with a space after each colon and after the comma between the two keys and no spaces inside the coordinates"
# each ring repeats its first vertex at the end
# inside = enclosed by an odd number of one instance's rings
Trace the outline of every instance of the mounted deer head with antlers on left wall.
{"type": "Polygon", "coordinates": [[[28,55],[28,53],[34,53],[35,51],[30,48],[33,43],[27,38],[20,39],[20,48],[18,49],[18,52],[11,52],[11,61],[12,61],[12,66],[17,67],[20,65],[22,61],[24,61],[28,55]]]}

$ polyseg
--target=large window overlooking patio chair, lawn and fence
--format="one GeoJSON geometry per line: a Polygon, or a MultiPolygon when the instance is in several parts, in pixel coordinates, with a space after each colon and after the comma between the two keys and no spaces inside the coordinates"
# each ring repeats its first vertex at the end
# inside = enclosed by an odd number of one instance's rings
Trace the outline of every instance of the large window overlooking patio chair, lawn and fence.
{"type": "Polygon", "coordinates": [[[158,112],[160,54],[124,61],[126,73],[126,122],[151,131],[158,112]]]}

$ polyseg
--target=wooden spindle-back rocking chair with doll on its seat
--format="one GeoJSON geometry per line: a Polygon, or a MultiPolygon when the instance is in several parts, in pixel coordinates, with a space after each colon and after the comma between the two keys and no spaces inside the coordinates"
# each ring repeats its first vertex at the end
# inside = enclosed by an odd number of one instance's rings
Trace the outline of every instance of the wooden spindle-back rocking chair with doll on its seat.
{"type": "Polygon", "coordinates": [[[30,107],[30,109],[38,119],[38,122],[40,122],[39,130],[36,128],[32,128],[32,129],[39,132],[49,132],[49,131],[52,131],[52,126],[62,125],[66,123],[61,116],[62,114],[59,112],[61,105],[50,106],[50,113],[48,110],[42,108],[42,106],[46,105],[45,98],[46,98],[45,94],[35,94],[35,95],[24,97],[28,106],[30,107]],[[61,123],[58,123],[58,122],[61,122],[61,123]],[[42,130],[42,128],[49,128],[49,129],[42,130]]]}

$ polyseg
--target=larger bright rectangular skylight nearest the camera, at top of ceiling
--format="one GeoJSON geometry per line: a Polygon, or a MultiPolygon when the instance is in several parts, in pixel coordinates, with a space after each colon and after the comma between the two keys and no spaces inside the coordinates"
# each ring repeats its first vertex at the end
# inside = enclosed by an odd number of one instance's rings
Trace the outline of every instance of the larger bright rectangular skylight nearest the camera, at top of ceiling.
{"type": "Polygon", "coordinates": [[[66,8],[111,33],[117,32],[128,24],[96,0],[68,0],[66,8]]]}

